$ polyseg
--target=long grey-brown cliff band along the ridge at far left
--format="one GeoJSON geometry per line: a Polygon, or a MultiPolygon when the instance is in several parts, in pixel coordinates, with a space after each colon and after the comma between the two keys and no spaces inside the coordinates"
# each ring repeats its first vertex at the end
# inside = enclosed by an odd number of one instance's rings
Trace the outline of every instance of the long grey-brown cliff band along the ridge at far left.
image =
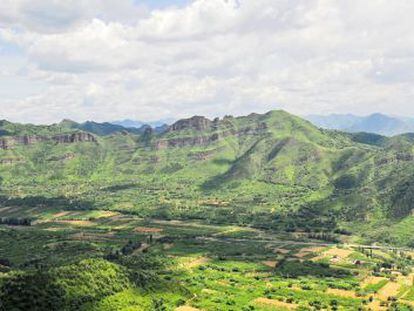
{"type": "Polygon", "coordinates": [[[40,142],[53,141],[57,144],[69,144],[79,142],[97,142],[95,136],[90,133],[79,132],[73,134],[62,134],[53,137],[38,136],[38,135],[24,135],[11,136],[0,138],[0,149],[13,149],[15,146],[28,146],[40,142]]]}

